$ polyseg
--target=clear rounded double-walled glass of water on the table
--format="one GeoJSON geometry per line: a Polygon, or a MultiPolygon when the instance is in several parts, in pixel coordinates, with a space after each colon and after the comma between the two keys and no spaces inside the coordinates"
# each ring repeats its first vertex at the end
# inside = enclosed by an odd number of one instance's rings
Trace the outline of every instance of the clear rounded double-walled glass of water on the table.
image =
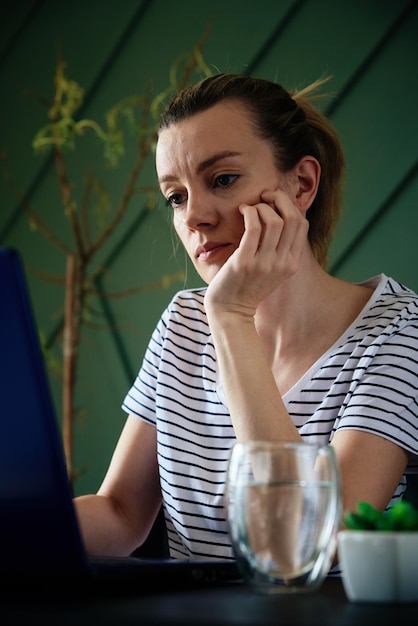
{"type": "Polygon", "coordinates": [[[331,446],[237,443],[225,496],[238,567],[255,590],[306,592],[321,585],[341,522],[340,473],[331,446]]]}

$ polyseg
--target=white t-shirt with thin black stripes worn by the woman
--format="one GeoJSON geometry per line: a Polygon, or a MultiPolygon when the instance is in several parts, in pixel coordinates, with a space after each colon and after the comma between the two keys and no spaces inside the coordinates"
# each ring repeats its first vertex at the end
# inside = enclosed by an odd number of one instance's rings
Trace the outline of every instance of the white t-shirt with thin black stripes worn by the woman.
{"type": "MultiPolygon", "coordinates": [[[[364,430],[405,448],[418,471],[418,296],[383,274],[364,284],[375,290],[363,311],[283,400],[306,441],[364,430]]],[[[174,296],[122,406],[157,428],[170,555],[232,559],[223,496],[235,435],[204,295],[174,296]]],[[[405,477],[393,499],[404,490],[405,477]]]]}

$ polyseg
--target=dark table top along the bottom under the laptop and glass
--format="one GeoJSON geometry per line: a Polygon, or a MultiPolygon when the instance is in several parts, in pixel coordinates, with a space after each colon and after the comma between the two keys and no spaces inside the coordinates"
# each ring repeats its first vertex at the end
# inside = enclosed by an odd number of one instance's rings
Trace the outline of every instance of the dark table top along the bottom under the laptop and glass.
{"type": "MultiPolygon", "coordinates": [[[[418,583],[417,583],[418,584],[418,583]]],[[[369,626],[415,623],[418,603],[349,602],[339,579],[328,579],[313,593],[266,596],[242,583],[148,592],[59,593],[48,587],[0,593],[0,623],[43,626],[369,626]]]]}

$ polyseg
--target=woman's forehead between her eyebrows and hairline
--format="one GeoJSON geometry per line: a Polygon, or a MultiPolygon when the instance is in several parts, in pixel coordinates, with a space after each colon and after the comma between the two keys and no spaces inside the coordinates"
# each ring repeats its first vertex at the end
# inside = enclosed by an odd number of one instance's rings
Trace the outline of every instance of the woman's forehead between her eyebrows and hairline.
{"type": "Polygon", "coordinates": [[[230,151],[247,154],[260,141],[241,103],[220,102],[160,132],[157,170],[160,173],[180,163],[196,162],[212,153],[230,151]]]}

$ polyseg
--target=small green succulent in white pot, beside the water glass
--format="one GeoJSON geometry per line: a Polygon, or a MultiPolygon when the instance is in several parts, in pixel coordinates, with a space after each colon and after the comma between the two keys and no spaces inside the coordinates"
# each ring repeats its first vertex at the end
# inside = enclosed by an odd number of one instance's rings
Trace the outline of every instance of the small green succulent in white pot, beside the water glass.
{"type": "Polygon", "coordinates": [[[344,515],[338,552],[345,592],[354,602],[418,602],[418,509],[387,511],[360,502],[344,515]]]}

